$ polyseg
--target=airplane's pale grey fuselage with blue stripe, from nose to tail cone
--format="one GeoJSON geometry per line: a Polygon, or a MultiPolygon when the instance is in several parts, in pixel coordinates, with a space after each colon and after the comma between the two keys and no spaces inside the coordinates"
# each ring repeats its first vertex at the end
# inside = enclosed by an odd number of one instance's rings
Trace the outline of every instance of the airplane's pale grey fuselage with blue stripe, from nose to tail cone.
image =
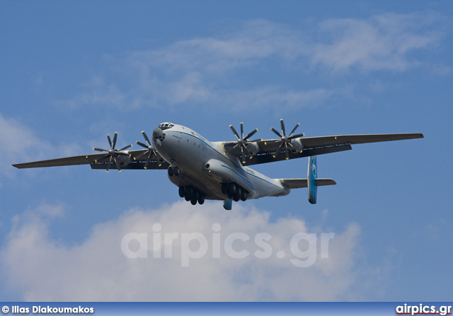
{"type": "Polygon", "coordinates": [[[239,158],[224,151],[222,143],[210,142],[188,127],[163,123],[153,131],[152,143],[159,155],[178,175],[168,178],[178,187],[194,187],[205,199],[231,199],[222,192],[222,183],[235,183],[247,192],[246,199],[287,195],[290,189],[277,179],[243,167],[239,158]]]}

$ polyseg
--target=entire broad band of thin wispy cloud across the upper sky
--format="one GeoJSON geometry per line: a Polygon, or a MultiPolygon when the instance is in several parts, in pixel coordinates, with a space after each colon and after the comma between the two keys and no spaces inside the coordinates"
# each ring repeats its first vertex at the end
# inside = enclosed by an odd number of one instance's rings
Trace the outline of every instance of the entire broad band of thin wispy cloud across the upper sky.
{"type": "Polygon", "coordinates": [[[229,33],[180,40],[124,58],[110,56],[106,60],[113,73],[96,75],[86,91],[66,103],[128,108],[217,105],[228,111],[254,110],[253,104],[316,106],[329,98],[347,98],[340,92],[345,87],[336,83],[327,89],[319,83],[307,88],[303,79],[319,73],[328,78],[356,70],[405,71],[418,66],[414,53],[439,45],[447,33],[437,28],[440,21],[435,13],[384,13],[367,19],[329,19],[308,30],[248,21],[229,33]],[[261,80],[263,74],[267,81],[261,80]]]}

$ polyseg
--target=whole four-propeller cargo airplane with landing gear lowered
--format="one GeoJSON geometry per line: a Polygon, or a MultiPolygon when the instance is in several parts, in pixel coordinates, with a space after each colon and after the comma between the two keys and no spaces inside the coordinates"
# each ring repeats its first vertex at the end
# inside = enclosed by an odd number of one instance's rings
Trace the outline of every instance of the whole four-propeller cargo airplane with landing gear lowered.
{"type": "Polygon", "coordinates": [[[16,168],[40,168],[63,165],[90,165],[92,169],[166,169],[168,179],[176,185],[179,196],[191,204],[203,204],[205,199],[224,201],[224,209],[231,210],[232,201],[246,201],[261,197],[281,197],[291,189],[308,189],[308,199],[316,204],[317,187],[336,185],[332,179],[317,177],[317,156],[351,150],[352,144],[374,143],[423,138],[412,134],[362,134],[304,137],[294,134],[299,123],[286,134],[285,123],[280,119],[281,131],[271,130],[277,139],[250,140],[258,129],[244,136],[229,126],[236,141],[208,141],[193,129],[164,122],[152,132],[151,140],[142,131],[146,144],[137,141],[144,149],[127,150],[127,145],[116,149],[117,132],[110,139],[108,149],[93,148],[100,153],[81,156],[18,163],[16,168]],[[249,168],[249,165],[280,160],[309,157],[306,179],[272,179],[249,168]]]}

